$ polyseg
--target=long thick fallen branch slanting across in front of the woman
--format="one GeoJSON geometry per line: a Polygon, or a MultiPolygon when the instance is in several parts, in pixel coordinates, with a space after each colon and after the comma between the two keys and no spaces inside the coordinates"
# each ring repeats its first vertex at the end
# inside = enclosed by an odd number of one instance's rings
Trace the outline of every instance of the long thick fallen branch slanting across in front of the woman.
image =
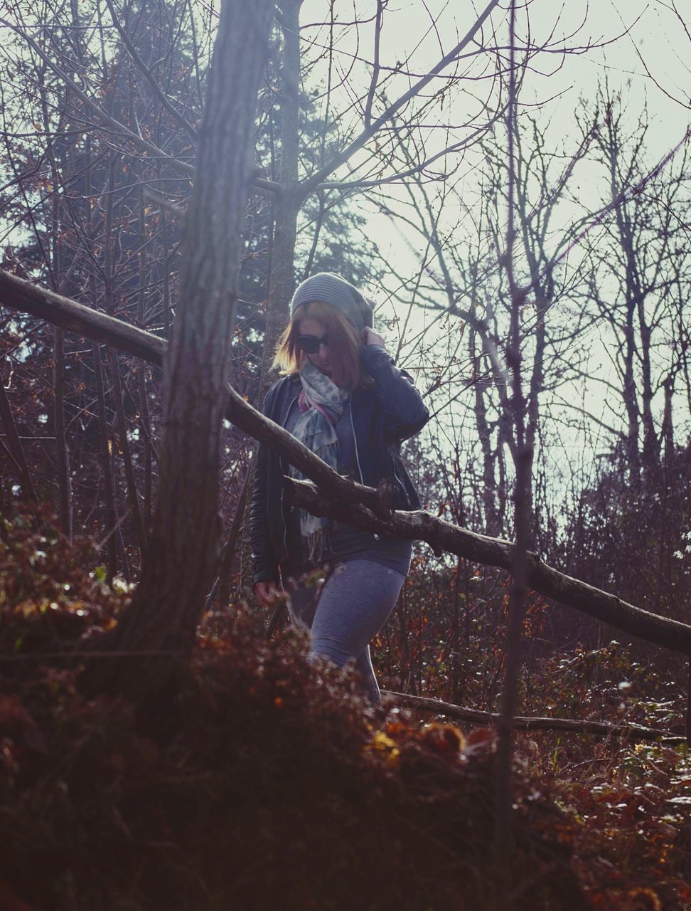
{"type": "MultiPolygon", "coordinates": [[[[0,270],[0,304],[31,313],[77,335],[113,345],[121,351],[163,363],[167,343],[156,335],[71,301],[31,281],[0,270]]],[[[386,497],[371,487],[341,477],[283,427],[274,424],[231,387],[229,421],[284,455],[300,468],[306,481],[288,479],[287,496],[315,515],[339,518],[356,527],[390,537],[427,541],[436,552],[448,551],[487,566],[509,569],[513,543],[475,534],[424,510],[389,512],[386,497]]],[[[529,555],[528,584],[535,591],[580,610],[655,645],[691,655],[691,626],[627,604],[615,595],[564,575],[529,555]]]]}

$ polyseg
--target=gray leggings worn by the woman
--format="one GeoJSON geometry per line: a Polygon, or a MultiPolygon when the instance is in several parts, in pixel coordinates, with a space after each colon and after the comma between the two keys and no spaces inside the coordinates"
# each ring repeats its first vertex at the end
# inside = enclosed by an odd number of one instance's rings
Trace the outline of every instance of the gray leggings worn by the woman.
{"type": "Polygon", "coordinates": [[[317,598],[314,588],[290,595],[290,614],[311,630],[310,658],[328,658],[343,667],[355,662],[367,698],[381,693],[371,665],[369,642],[396,604],[405,576],[371,560],[339,563],[317,598]]]}

